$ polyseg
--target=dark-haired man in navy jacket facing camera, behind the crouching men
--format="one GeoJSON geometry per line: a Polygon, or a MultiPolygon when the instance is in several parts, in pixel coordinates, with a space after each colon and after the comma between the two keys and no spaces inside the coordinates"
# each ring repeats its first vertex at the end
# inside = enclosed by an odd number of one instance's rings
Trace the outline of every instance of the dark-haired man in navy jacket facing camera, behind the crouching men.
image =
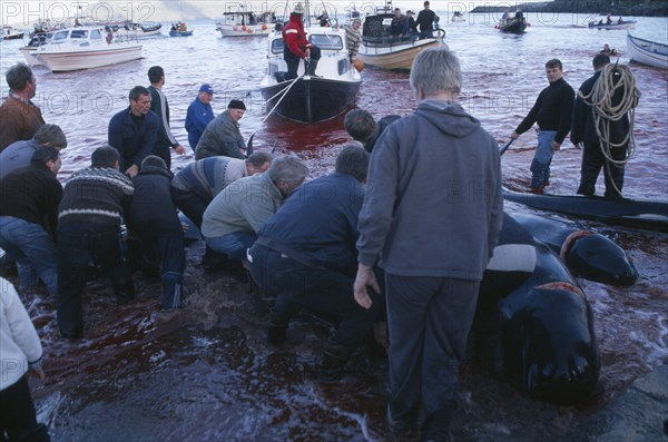
{"type": "Polygon", "coordinates": [[[150,92],[144,86],[135,86],[128,99],[130,106],[111,117],[108,138],[109,146],[118,150],[118,169],[134,177],[144,158],[153,154],[158,117],[150,110],[150,92]]]}

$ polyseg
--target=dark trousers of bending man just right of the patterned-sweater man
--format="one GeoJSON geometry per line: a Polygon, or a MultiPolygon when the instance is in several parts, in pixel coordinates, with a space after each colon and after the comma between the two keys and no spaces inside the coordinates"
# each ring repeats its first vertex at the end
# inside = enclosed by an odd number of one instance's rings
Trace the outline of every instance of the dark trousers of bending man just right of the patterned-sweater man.
{"type": "Polygon", "coordinates": [[[143,267],[159,267],[163,281],[163,308],[179,308],[186,269],[184,235],[146,235],[141,238],[143,267]]]}

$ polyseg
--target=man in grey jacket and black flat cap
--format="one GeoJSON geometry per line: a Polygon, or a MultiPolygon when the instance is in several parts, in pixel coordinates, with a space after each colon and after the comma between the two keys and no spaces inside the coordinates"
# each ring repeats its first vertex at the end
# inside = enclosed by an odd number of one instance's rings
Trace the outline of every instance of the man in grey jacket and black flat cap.
{"type": "Polygon", "coordinates": [[[227,110],[209,122],[197,143],[195,159],[224,156],[244,159],[246,144],[239,131],[239,120],[244,117],[246,105],[242,100],[232,100],[227,110]]]}

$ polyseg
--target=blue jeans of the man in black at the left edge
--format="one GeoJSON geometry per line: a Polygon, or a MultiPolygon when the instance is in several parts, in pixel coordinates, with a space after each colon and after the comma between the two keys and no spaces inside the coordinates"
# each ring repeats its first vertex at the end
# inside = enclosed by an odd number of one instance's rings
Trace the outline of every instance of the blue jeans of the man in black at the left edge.
{"type": "Polygon", "coordinates": [[[0,217],[0,247],[17,262],[19,289],[38,282],[47,285],[49,294],[58,293],[58,272],[53,239],[39,224],[13,216],[0,217]]]}

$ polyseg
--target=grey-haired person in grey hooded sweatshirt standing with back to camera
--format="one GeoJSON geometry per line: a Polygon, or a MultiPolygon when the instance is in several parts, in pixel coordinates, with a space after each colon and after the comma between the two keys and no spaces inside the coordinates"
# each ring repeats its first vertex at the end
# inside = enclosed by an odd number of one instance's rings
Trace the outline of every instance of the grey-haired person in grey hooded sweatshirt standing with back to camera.
{"type": "Polygon", "coordinates": [[[366,291],[380,289],[372,272],[380,258],[390,430],[409,431],[422,411],[425,439],[449,441],[459,364],[501,229],[500,157],[494,138],[456,102],[462,73],[446,47],[420,52],[410,81],[415,112],[387,127],[371,156],[355,298],[372,307],[366,291]]]}

